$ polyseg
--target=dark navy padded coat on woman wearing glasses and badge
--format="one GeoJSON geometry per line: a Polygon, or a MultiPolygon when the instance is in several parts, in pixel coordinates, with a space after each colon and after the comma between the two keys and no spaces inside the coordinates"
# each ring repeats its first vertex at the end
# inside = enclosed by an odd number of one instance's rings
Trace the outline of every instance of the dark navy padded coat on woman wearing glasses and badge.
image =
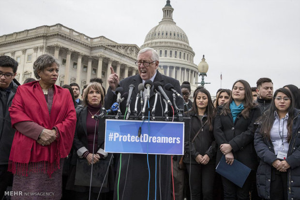
{"type": "MultiPolygon", "coordinates": [[[[291,166],[287,170],[288,200],[300,200],[300,110],[294,109],[292,137],[288,146],[286,162],[291,166]]],[[[271,166],[278,159],[274,153],[272,141],[264,137],[260,125],[255,131],[255,150],[260,157],[256,173],[258,195],[270,199],[271,166]]]]}

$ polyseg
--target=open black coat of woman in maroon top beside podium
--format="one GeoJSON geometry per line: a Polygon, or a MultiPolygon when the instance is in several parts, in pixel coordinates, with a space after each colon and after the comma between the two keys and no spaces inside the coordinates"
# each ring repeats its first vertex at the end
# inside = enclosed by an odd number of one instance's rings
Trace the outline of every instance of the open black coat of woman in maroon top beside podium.
{"type": "MultiPolygon", "coordinates": [[[[101,112],[103,111],[103,108],[101,108],[101,112]]],[[[101,113],[100,112],[100,113],[101,113]]],[[[69,190],[75,190],[77,192],[88,192],[89,187],[87,186],[75,186],[75,171],[76,171],[76,162],[78,159],[77,156],[77,150],[86,147],[89,149],[88,146],[88,134],[87,134],[87,115],[88,115],[88,107],[79,107],[76,110],[76,129],[75,129],[75,135],[73,140],[73,156],[71,164],[73,165],[71,167],[71,174],[67,181],[66,188],[69,190]]],[[[105,144],[105,119],[100,118],[98,121],[98,145],[96,148],[96,151],[98,151],[100,148],[104,149],[105,144]]],[[[112,154],[108,154],[108,156],[105,158],[106,160],[109,160],[112,154]]],[[[103,159],[101,159],[99,162],[101,162],[103,159]]],[[[106,170],[106,169],[105,169],[106,170]]],[[[102,192],[108,192],[109,190],[113,190],[114,186],[114,174],[113,174],[113,159],[111,159],[110,163],[110,169],[108,172],[108,187],[102,188],[102,192]]],[[[99,192],[99,188],[94,187],[93,192],[99,192]]]]}

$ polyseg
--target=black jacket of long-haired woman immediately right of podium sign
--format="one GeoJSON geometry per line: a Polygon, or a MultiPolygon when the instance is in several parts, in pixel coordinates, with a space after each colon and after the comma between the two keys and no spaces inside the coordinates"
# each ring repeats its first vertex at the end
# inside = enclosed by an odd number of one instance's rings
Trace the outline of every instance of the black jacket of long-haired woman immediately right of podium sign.
{"type": "Polygon", "coordinates": [[[184,135],[187,139],[190,136],[190,140],[186,140],[184,143],[183,162],[190,163],[190,157],[192,157],[191,163],[198,164],[195,158],[199,154],[202,156],[207,154],[210,157],[210,162],[215,162],[217,153],[217,143],[214,140],[213,131],[210,131],[209,125],[208,123],[206,123],[207,115],[204,115],[202,117],[202,122],[198,118],[198,114],[196,114],[194,111],[189,112],[189,116],[191,118],[189,124],[189,126],[191,127],[191,135],[189,135],[189,133],[185,133],[184,135]],[[200,133],[197,135],[194,142],[192,143],[192,140],[194,139],[195,135],[201,127],[202,129],[200,130],[200,133]]]}

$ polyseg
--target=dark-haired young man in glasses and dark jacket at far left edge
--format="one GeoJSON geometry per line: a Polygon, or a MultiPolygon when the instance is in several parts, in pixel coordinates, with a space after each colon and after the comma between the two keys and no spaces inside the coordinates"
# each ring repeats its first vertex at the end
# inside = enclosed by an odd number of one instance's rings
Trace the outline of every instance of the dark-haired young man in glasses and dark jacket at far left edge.
{"type": "Polygon", "coordinates": [[[13,82],[18,62],[0,56],[0,199],[7,186],[13,183],[13,174],[7,171],[15,129],[12,128],[8,108],[12,104],[17,85],[13,82]]]}

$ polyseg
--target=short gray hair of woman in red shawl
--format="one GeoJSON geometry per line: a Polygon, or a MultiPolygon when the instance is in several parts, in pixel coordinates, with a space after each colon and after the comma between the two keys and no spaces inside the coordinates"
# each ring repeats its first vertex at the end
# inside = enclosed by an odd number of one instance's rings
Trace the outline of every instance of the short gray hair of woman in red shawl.
{"type": "Polygon", "coordinates": [[[40,79],[41,77],[39,76],[38,72],[43,71],[46,67],[52,66],[53,63],[56,63],[56,65],[60,67],[60,62],[54,56],[48,54],[39,56],[33,63],[34,76],[37,79],[40,79]]]}

